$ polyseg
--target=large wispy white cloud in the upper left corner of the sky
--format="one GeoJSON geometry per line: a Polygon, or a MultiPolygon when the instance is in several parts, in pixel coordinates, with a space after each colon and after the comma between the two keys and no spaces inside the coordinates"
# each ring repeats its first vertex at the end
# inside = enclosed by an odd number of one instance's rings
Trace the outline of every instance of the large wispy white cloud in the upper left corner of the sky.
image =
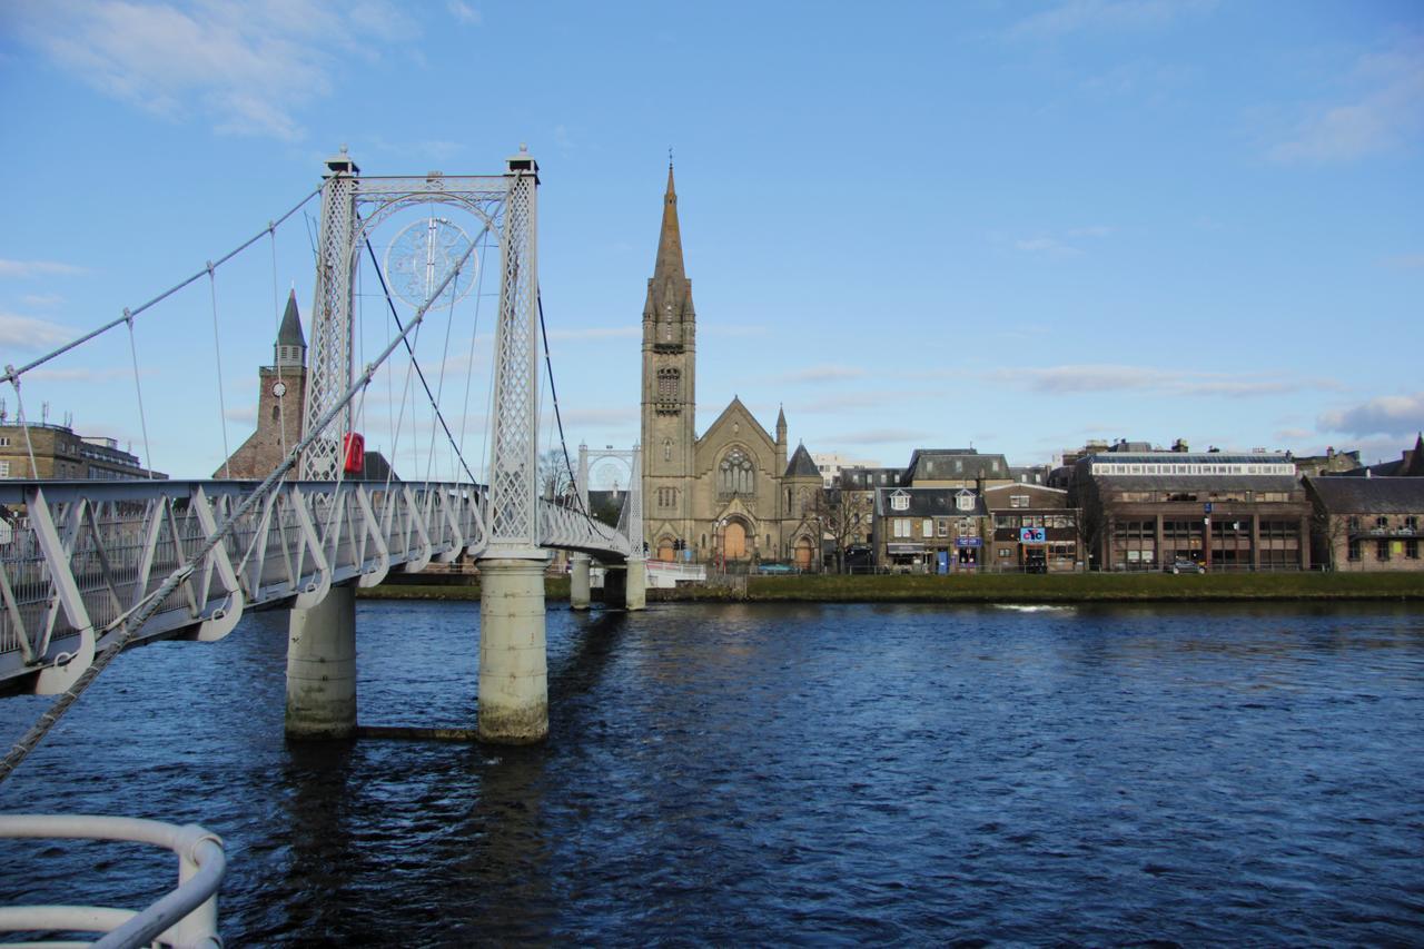
{"type": "Polygon", "coordinates": [[[224,134],[286,141],[298,113],[330,95],[352,57],[375,58],[419,28],[397,4],[256,0],[244,4],[23,0],[19,37],[104,95],[171,121],[201,114],[224,134]]]}

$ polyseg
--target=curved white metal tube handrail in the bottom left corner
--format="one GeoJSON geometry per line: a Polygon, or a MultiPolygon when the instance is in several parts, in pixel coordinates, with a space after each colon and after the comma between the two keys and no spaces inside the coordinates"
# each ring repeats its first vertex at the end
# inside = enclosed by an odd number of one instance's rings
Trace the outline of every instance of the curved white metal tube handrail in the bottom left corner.
{"type": "Polygon", "coordinates": [[[0,930],[78,929],[114,925],[94,943],[103,949],[142,946],[161,938],[174,946],[221,946],[218,888],[226,872],[222,839],[197,824],[178,826],[141,818],[91,814],[3,814],[0,838],[127,841],[162,846],[178,855],[178,888],[140,912],[101,906],[11,906],[0,912],[0,930]],[[73,912],[73,915],[68,915],[73,912]],[[127,921],[122,919],[128,915],[127,921]],[[70,925],[58,925],[64,919],[70,925]]]}

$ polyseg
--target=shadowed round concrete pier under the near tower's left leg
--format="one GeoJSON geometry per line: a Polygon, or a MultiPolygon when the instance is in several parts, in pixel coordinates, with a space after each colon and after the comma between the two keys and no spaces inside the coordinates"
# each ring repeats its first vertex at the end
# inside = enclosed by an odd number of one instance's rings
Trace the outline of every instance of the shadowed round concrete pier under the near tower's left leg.
{"type": "Polygon", "coordinates": [[[286,734],[349,738],[356,732],[356,587],[332,587],[293,607],[286,638],[286,734]]]}

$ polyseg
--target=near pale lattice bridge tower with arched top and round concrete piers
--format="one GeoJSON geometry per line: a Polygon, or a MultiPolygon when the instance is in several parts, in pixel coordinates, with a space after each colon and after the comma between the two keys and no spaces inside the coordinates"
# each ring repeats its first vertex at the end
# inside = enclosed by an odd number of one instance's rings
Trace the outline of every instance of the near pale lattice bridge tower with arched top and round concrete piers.
{"type": "MultiPolygon", "coordinates": [[[[478,559],[481,740],[524,744],[548,734],[544,567],[538,546],[538,164],[521,145],[500,177],[362,178],[346,154],[326,162],[312,309],[303,435],[350,389],[356,262],[372,229],[404,208],[446,204],[476,215],[500,242],[500,315],[494,333],[494,410],[487,494],[488,544],[478,559]],[[357,214],[367,208],[367,214],[357,214]]],[[[300,465],[303,480],[340,477],[343,409],[300,465]]],[[[288,643],[288,734],[343,737],[356,728],[355,598],[333,588],[299,603],[288,643]]]]}

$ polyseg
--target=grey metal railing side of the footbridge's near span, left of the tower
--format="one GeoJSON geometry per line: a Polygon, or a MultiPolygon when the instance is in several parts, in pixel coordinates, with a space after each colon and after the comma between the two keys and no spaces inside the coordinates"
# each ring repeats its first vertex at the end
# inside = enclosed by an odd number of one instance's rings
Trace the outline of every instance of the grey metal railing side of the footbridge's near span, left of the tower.
{"type": "MultiPolygon", "coordinates": [[[[484,547],[484,497],[453,483],[288,482],[235,523],[255,482],[30,482],[0,486],[0,684],[68,667],[226,526],[138,640],[226,636],[248,606],[315,606],[484,547]]],[[[63,678],[83,670],[68,670],[63,678]]],[[[61,678],[61,677],[50,677],[61,678]]],[[[63,687],[63,685],[60,685],[63,687]]]]}

